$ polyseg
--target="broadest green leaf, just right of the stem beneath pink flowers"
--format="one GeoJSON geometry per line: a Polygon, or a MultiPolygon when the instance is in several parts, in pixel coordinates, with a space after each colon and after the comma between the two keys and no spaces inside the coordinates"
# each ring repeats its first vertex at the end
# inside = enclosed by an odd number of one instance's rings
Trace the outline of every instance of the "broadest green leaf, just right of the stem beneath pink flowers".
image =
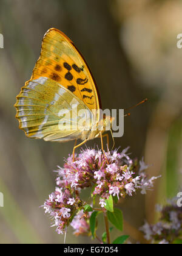
{"type": "Polygon", "coordinates": [[[113,213],[107,212],[109,221],[120,231],[123,231],[123,213],[120,209],[114,208],[113,213]]]}

